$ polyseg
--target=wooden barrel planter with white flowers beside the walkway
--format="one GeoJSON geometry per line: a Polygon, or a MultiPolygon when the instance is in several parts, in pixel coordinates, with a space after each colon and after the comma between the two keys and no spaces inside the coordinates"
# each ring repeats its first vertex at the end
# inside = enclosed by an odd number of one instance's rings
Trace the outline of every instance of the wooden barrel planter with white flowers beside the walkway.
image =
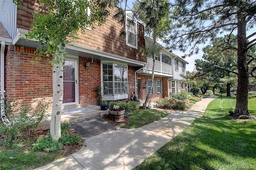
{"type": "Polygon", "coordinates": [[[108,110],[108,115],[113,121],[124,120],[126,103],[122,101],[112,101],[108,110]]]}

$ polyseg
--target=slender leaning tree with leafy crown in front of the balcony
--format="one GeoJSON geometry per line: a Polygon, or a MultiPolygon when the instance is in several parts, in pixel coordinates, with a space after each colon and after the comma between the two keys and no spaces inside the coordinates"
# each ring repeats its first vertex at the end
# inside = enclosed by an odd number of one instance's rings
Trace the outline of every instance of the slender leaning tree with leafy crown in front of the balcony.
{"type": "Polygon", "coordinates": [[[138,20],[144,23],[146,34],[153,39],[153,44],[146,50],[147,56],[153,59],[150,89],[143,104],[143,108],[146,109],[154,86],[155,55],[159,54],[161,49],[156,40],[164,38],[170,30],[170,3],[168,0],[137,0],[134,2],[133,9],[138,20]]]}

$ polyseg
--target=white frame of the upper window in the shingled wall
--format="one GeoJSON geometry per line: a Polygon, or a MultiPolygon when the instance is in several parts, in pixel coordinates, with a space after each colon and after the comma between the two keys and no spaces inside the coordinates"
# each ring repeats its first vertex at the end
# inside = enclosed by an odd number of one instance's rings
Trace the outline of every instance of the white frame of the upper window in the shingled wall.
{"type": "Polygon", "coordinates": [[[132,11],[126,11],[126,21],[125,21],[125,23],[126,23],[125,24],[126,45],[138,49],[137,19],[135,18],[134,25],[132,25],[132,27],[134,27],[133,29],[134,29],[135,33],[131,32],[131,31],[128,31],[128,30],[130,30],[129,29],[130,24],[128,23],[128,20],[133,20],[132,11]],[[131,32],[132,34],[135,34],[135,37],[136,37],[135,38],[136,39],[135,40],[135,45],[128,42],[128,36],[129,36],[128,32],[131,32]]]}

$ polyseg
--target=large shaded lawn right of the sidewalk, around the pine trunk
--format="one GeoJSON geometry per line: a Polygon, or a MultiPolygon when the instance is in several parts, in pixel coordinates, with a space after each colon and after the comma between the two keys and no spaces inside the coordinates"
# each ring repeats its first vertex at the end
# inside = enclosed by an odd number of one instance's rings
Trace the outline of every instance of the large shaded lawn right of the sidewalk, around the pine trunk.
{"type": "MultiPolygon", "coordinates": [[[[204,116],[168,142],[135,170],[256,169],[256,121],[235,120],[228,115],[236,99],[212,101],[204,116]]],[[[256,98],[249,111],[256,115],[256,98]]]]}

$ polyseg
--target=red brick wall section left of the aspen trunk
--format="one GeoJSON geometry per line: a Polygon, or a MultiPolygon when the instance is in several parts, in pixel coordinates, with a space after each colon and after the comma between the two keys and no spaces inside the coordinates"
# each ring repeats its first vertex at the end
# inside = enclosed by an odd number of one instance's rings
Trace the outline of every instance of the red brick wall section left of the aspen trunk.
{"type": "Polygon", "coordinates": [[[7,99],[17,99],[25,105],[33,97],[52,97],[52,66],[46,57],[36,62],[34,48],[9,45],[5,61],[5,90],[7,99]],[[32,95],[33,97],[32,97],[32,95]]]}

